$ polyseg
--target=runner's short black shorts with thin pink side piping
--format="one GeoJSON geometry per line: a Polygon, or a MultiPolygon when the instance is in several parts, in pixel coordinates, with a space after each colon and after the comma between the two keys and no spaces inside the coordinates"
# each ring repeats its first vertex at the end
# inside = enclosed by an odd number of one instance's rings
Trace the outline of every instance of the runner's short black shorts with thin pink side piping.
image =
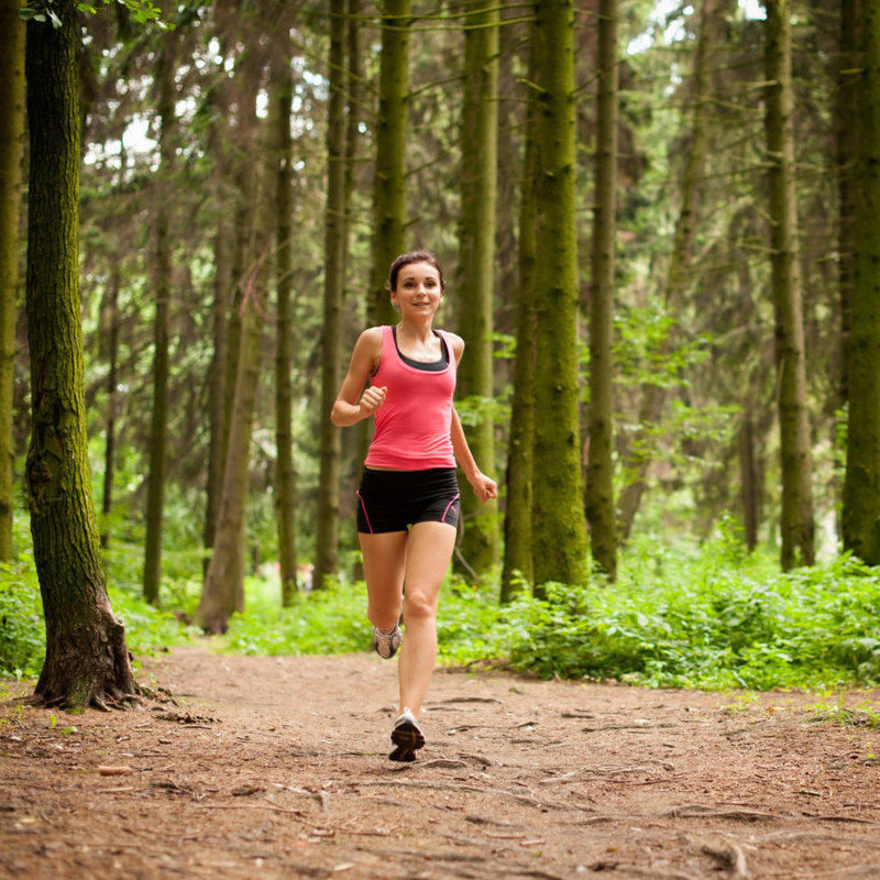
{"type": "Polygon", "coordinates": [[[459,482],[454,468],[374,471],[364,468],[358,490],[358,531],[406,531],[415,522],[459,525],[459,482]]]}

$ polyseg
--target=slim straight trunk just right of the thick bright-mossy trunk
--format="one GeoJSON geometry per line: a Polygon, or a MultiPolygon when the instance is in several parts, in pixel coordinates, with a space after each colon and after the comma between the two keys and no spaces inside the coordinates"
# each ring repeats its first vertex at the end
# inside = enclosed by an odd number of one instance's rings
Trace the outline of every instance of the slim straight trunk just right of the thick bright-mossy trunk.
{"type": "Polygon", "coordinates": [[[610,580],[617,575],[612,404],[614,249],[617,230],[617,0],[601,0],[591,261],[593,284],[590,296],[590,452],[586,472],[586,516],[593,560],[610,580]]]}

